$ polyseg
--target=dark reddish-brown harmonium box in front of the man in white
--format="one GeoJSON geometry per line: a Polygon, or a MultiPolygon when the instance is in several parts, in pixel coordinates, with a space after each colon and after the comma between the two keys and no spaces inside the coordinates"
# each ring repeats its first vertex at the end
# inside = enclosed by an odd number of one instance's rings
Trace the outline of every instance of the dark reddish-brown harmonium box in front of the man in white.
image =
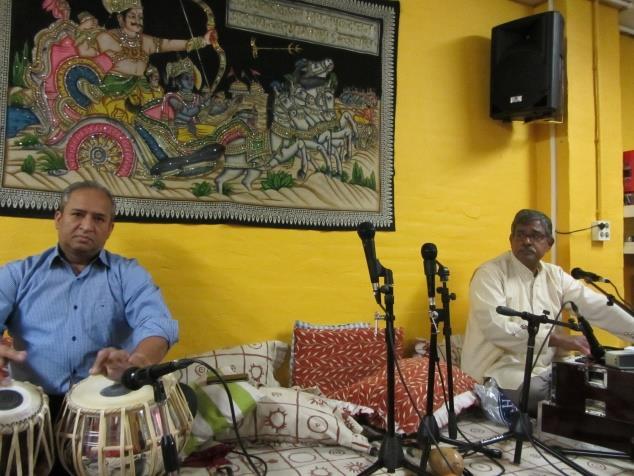
{"type": "Polygon", "coordinates": [[[634,371],[554,362],[551,400],[538,418],[542,431],[634,458],[634,371]]]}

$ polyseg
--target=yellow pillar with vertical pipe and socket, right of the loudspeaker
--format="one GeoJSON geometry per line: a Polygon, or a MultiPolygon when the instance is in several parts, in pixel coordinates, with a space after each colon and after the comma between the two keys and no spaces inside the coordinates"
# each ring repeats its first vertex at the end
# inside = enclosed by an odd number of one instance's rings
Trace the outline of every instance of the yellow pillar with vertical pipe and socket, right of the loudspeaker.
{"type": "MultiPolygon", "coordinates": [[[[613,239],[589,232],[560,239],[559,264],[596,270],[623,290],[623,179],[618,11],[598,1],[565,3],[568,46],[567,173],[559,178],[562,229],[609,220],[613,239]],[[562,184],[565,181],[565,185],[562,184]]],[[[564,171],[565,172],[565,171],[564,171]]],[[[612,289],[608,289],[613,293],[612,289]]],[[[599,332],[604,343],[617,342],[599,332]]]]}

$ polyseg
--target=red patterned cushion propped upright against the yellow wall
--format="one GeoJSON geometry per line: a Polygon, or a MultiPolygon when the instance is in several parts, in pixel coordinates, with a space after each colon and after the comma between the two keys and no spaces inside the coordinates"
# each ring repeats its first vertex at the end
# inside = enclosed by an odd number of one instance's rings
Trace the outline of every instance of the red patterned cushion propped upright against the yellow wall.
{"type": "MultiPolygon", "coordinates": [[[[403,329],[395,331],[396,354],[403,353],[403,329]]],[[[385,330],[294,329],[293,385],[319,387],[324,395],[385,367],[385,330]]]]}

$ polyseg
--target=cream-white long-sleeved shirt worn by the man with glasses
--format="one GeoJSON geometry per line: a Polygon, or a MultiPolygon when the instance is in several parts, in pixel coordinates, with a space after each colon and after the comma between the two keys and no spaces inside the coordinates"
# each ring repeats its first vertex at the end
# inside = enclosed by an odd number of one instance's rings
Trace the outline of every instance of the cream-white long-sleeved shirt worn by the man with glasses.
{"type": "MultiPolygon", "coordinates": [[[[634,318],[618,306],[608,306],[604,295],[576,281],[561,267],[542,262],[539,272],[533,276],[510,251],[484,263],[471,279],[462,369],[479,382],[493,377],[502,388],[518,388],[524,376],[527,322],[520,317],[502,316],[495,308],[507,306],[531,314],[547,310],[554,319],[567,301],[574,302],[593,326],[633,340],[634,318]]],[[[539,326],[534,358],[551,327],[551,324],[539,326]]],[[[564,330],[555,326],[553,332],[564,330]]],[[[555,351],[548,343],[544,345],[532,376],[550,369],[555,351]]]]}

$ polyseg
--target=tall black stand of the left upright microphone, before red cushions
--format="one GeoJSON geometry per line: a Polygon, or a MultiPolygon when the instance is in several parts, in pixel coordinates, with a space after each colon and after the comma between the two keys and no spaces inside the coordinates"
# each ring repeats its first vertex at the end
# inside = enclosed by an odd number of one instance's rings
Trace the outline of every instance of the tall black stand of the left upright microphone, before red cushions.
{"type": "Polygon", "coordinates": [[[379,276],[384,277],[384,285],[378,289],[377,301],[381,305],[380,296],[385,296],[385,307],[381,308],[385,311],[385,345],[387,350],[387,432],[383,436],[381,448],[379,449],[378,459],[368,468],[359,473],[359,476],[367,476],[375,471],[385,468],[388,473],[394,473],[397,468],[406,468],[415,474],[420,474],[420,468],[410,463],[405,458],[403,452],[403,444],[401,438],[395,431],[394,417],[394,292],[392,270],[384,268],[377,260],[377,266],[380,269],[379,276]]]}

